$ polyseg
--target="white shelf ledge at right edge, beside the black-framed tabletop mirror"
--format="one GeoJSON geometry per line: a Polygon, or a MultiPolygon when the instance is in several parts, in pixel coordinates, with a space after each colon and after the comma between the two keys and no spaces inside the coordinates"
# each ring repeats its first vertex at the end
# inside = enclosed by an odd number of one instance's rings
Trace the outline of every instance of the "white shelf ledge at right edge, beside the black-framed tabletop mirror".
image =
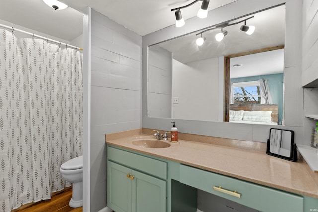
{"type": "Polygon", "coordinates": [[[313,172],[318,173],[318,154],[317,149],[296,144],[299,153],[303,156],[309,167],[313,170],[313,172]]]}

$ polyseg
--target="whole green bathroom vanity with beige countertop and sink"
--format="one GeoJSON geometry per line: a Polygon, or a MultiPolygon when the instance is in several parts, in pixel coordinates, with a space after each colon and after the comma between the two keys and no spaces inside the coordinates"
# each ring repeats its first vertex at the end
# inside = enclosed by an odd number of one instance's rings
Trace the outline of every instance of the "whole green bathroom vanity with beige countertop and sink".
{"type": "Polygon", "coordinates": [[[106,136],[107,205],[116,212],[196,212],[197,189],[262,212],[318,209],[317,177],[306,163],[247,148],[249,141],[159,141],[170,146],[149,148],[133,141],[150,135],[120,137],[106,136]]]}

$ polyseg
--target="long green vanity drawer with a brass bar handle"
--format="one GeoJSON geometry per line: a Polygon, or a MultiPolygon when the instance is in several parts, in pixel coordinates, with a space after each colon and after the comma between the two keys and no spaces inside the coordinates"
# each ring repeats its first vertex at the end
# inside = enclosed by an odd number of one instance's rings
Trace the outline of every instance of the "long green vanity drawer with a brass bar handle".
{"type": "Polygon", "coordinates": [[[180,182],[262,212],[303,212],[301,196],[186,165],[180,165],[180,182]]]}

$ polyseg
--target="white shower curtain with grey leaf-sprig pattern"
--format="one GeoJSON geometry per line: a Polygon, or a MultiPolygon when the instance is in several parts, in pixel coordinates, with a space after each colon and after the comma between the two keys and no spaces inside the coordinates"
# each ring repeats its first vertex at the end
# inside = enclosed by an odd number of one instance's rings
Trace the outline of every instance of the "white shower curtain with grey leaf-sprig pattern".
{"type": "Polygon", "coordinates": [[[0,29],[0,211],[50,199],[82,155],[82,53],[0,29]]]}

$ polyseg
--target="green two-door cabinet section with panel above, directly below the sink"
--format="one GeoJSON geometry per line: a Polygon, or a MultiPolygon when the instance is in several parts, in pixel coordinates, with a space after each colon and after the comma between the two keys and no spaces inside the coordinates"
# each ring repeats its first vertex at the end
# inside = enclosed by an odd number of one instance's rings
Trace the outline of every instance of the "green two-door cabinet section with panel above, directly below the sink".
{"type": "Polygon", "coordinates": [[[107,205],[116,212],[166,212],[167,164],[108,147],[107,205]],[[156,169],[159,177],[149,173],[156,169]],[[148,174],[149,173],[149,174],[148,174]]]}

